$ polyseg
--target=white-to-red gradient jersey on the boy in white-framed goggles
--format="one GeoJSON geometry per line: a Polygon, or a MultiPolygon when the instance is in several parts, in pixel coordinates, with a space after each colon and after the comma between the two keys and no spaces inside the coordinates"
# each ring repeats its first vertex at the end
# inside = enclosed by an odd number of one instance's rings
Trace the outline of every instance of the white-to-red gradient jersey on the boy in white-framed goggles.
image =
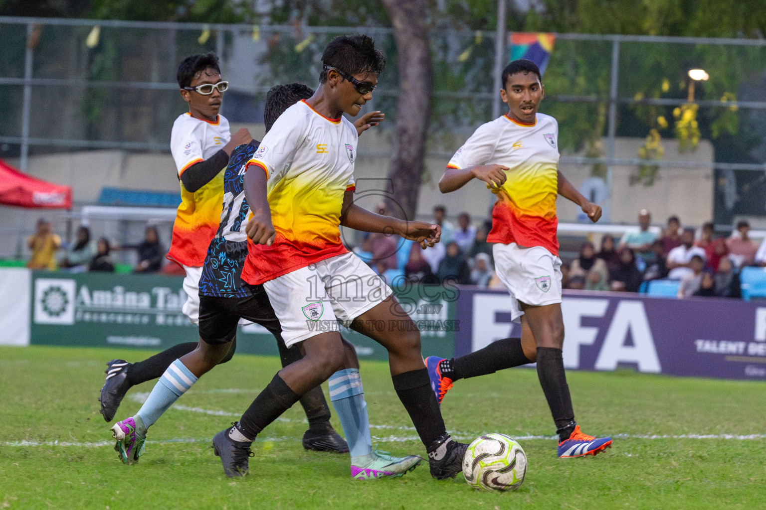
{"type": "MultiPolygon", "coordinates": [[[[195,119],[190,114],[179,115],[173,122],[170,151],[178,178],[191,165],[205,161],[228,144],[229,122],[218,115],[218,122],[195,119]]],[[[200,267],[208,255],[208,245],[221,222],[224,199],[224,171],[199,190],[192,193],[181,184],[181,205],[173,223],[173,240],[168,258],[182,265],[200,267]]]]}

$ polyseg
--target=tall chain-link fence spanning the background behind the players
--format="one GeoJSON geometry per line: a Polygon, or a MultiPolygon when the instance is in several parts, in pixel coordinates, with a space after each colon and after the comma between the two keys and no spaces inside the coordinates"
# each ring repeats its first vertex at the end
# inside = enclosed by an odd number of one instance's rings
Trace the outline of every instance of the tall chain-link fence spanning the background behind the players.
{"type": "MultiPolygon", "coordinates": [[[[19,158],[25,169],[30,155],[57,151],[169,151],[172,122],[186,108],[176,67],[208,50],[231,83],[224,115],[261,122],[271,86],[315,85],[326,43],[357,31],[375,37],[388,59],[368,109],[384,110],[391,129],[399,63],[388,28],[0,18],[0,158],[19,158]]],[[[562,164],[587,168],[606,190],[618,184],[616,167],[630,168],[619,185],[637,189],[656,186],[663,169],[704,169],[713,197],[694,200],[714,202],[718,223],[766,216],[766,41],[555,35],[541,111],[558,119],[562,164]],[[691,69],[709,80],[691,80],[691,69]]],[[[431,156],[448,157],[490,119],[495,37],[431,32],[431,156]]]]}

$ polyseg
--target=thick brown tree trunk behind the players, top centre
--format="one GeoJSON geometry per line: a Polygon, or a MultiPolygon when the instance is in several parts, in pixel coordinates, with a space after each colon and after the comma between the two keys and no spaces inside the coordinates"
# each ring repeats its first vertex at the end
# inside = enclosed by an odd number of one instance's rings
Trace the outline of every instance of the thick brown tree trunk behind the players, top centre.
{"type": "Polygon", "coordinates": [[[388,178],[393,186],[390,213],[414,220],[426,151],[431,94],[434,91],[425,0],[382,0],[394,28],[398,51],[399,96],[388,178]]]}

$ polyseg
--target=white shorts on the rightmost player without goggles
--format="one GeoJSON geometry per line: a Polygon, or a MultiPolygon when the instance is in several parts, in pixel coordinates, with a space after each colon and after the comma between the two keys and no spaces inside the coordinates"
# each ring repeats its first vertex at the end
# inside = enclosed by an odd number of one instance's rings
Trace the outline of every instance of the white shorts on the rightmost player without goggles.
{"type": "Polygon", "coordinates": [[[561,303],[561,258],[542,246],[524,248],[512,242],[492,249],[495,272],[511,294],[511,318],[521,322],[519,301],[534,307],[561,303]]]}

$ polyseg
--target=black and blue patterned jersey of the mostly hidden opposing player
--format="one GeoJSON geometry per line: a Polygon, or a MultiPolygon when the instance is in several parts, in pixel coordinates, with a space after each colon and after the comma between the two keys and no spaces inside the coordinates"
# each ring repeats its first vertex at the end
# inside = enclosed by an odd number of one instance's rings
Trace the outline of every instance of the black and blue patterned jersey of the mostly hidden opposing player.
{"type": "Polygon", "coordinates": [[[247,257],[247,216],[250,207],[244,200],[244,173],[247,161],[259,142],[250,141],[231,152],[224,174],[224,203],[218,232],[208,246],[208,255],[199,279],[199,294],[212,297],[247,297],[261,291],[260,285],[242,281],[247,257]]]}

